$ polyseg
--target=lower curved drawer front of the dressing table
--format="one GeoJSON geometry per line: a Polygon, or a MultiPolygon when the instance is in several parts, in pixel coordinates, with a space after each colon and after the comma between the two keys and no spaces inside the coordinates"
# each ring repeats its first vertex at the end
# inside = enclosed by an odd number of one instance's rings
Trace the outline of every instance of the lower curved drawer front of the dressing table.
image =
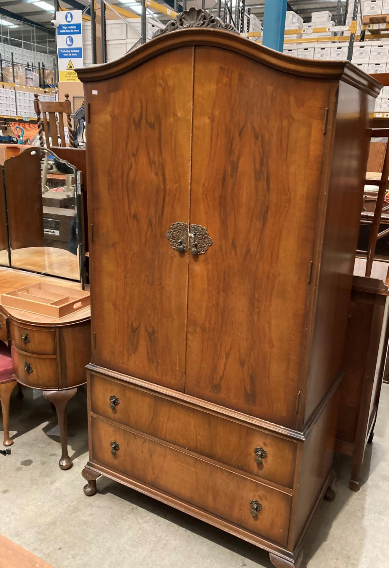
{"type": "Polygon", "coordinates": [[[16,377],[23,385],[36,387],[37,389],[58,389],[57,360],[55,357],[39,357],[30,353],[21,353],[15,347],[11,347],[12,362],[16,377]],[[24,368],[26,362],[31,372],[24,368]]]}

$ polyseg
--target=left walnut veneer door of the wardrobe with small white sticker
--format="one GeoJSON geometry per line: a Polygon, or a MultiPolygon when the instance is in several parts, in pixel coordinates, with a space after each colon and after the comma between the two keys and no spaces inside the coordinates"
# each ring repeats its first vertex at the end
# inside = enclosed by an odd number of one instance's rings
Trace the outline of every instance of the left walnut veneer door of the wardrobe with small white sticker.
{"type": "Polygon", "coordinates": [[[177,390],[188,258],[165,233],[189,221],[192,89],[192,48],[87,85],[92,360],[177,390]]]}

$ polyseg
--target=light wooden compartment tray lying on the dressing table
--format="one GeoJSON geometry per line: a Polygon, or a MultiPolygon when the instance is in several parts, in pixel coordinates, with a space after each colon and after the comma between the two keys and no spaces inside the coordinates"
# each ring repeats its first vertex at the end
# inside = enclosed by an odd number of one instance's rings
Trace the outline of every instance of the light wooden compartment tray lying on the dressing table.
{"type": "Polygon", "coordinates": [[[85,290],[37,282],[1,295],[3,306],[34,312],[51,318],[64,318],[90,306],[90,293],[85,290]]]}

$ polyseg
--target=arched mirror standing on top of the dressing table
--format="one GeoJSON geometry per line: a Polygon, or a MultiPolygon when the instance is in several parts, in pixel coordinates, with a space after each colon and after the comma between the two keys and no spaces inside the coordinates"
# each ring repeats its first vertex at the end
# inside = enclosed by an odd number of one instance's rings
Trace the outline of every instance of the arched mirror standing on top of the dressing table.
{"type": "Polygon", "coordinates": [[[4,162],[0,185],[0,264],[84,283],[80,172],[35,147],[4,162]]]}

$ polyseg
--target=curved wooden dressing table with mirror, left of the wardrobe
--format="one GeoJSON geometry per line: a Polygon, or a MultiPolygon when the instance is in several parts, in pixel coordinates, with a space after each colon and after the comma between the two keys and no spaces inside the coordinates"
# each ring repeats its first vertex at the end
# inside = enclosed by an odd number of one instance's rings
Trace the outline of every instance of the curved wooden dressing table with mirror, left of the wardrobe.
{"type": "MultiPolygon", "coordinates": [[[[23,386],[43,390],[45,398],[55,406],[61,437],[58,465],[65,470],[73,465],[68,454],[66,404],[86,382],[85,365],[91,357],[90,307],[55,318],[10,307],[2,295],[37,284],[85,288],[82,178],[69,162],[43,148],[28,149],[7,160],[2,178],[5,186],[0,220],[6,220],[6,227],[2,226],[0,250],[0,340],[11,348],[16,380],[23,386]],[[57,170],[68,178],[48,173],[57,170]],[[68,244],[65,239],[51,242],[52,233],[61,236],[61,227],[45,221],[51,212],[45,213],[42,195],[53,189],[50,179],[57,183],[64,179],[68,184],[59,189],[68,190],[68,208],[63,211],[74,219],[76,254],[70,252],[74,243],[68,244]]],[[[64,195],[64,191],[60,193],[64,195]]]]}

